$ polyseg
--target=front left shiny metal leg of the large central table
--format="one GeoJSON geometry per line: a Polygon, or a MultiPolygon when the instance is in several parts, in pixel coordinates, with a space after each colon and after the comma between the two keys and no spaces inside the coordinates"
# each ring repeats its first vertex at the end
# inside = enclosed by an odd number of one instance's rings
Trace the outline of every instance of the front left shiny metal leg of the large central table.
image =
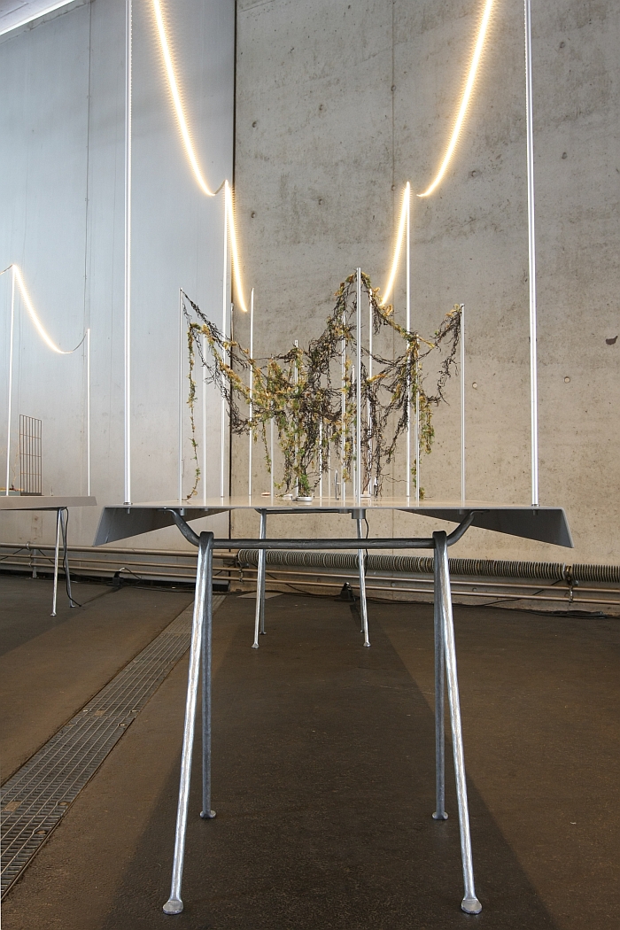
{"type": "MultiPolygon", "coordinates": [[[[178,786],[177,828],[175,831],[175,853],[172,865],[172,886],[170,897],[165,902],[166,914],[179,914],[183,910],[181,900],[181,880],[183,877],[183,858],[185,856],[185,832],[187,829],[188,803],[190,800],[191,750],[196,717],[196,699],[198,695],[198,677],[202,652],[203,630],[211,628],[211,586],[208,584],[209,565],[212,565],[213,533],[201,533],[198,543],[198,567],[196,572],[196,593],[193,602],[193,619],[191,621],[190,668],[188,672],[187,700],[185,704],[185,726],[183,729],[183,751],[181,754],[180,784],[178,786]],[[206,616],[205,615],[209,615],[206,616]]],[[[209,649],[210,656],[210,649],[209,649]]],[[[205,653],[206,655],[206,653],[205,653]]],[[[211,675],[209,671],[209,684],[211,675]]],[[[210,694],[210,691],[209,691],[210,694]]],[[[210,710],[210,700],[207,701],[210,710]]],[[[210,731],[210,726],[209,726],[210,731]]],[[[210,767],[209,767],[210,771],[210,767]]],[[[209,799],[210,804],[210,799],[209,799]]],[[[209,810],[208,804],[204,810],[209,810]]]]}

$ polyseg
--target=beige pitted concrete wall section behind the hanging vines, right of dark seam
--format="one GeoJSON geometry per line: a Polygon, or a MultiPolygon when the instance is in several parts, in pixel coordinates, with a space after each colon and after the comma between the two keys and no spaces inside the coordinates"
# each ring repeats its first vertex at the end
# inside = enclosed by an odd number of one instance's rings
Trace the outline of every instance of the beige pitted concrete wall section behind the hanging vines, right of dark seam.
{"type": "MultiPolygon", "coordinates": [[[[474,530],[459,554],[615,562],[620,339],[606,340],[620,332],[620,8],[533,7],[540,499],[566,508],[576,548],[474,530]]],[[[434,177],[480,15],[480,0],[239,0],[235,181],[257,354],[316,336],[357,265],[385,284],[403,185],[420,192],[434,177]]],[[[498,0],[455,158],[441,188],[414,200],[412,277],[422,333],[466,304],[468,497],[527,503],[524,93],[522,3],[498,0]]],[[[403,321],[402,275],[396,313],[403,321]]],[[[247,341],[246,320],[236,333],[247,341]]],[[[422,463],[429,498],[459,493],[456,385],[449,397],[422,463]]],[[[403,462],[395,477],[398,492],[403,462]]],[[[266,483],[257,465],[257,489],[266,483]]],[[[322,534],[338,525],[352,529],[330,517],[322,534]]],[[[395,516],[372,531],[412,525],[395,516]]],[[[426,535],[430,524],[415,525],[426,535]]],[[[302,526],[310,535],[310,518],[302,526]]]]}

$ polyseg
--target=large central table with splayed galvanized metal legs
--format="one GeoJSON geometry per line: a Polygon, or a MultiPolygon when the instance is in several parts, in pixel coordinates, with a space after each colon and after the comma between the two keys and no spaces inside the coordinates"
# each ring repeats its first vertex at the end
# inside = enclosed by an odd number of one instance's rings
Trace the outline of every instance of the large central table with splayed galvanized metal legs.
{"type": "MultiPolygon", "coordinates": [[[[258,565],[257,618],[255,642],[257,646],[258,620],[261,602],[264,622],[265,557],[268,549],[300,550],[358,550],[360,565],[360,591],[363,591],[363,552],[368,549],[432,549],[434,551],[434,639],[435,639],[435,795],[432,817],[445,820],[445,734],[444,690],[447,679],[448,704],[455,761],[456,797],[463,864],[464,896],[461,909],[468,914],[481,912],[476,897],[469,832],[468,796],[465,772],[465,755],[461,728],[458,678],[456,673],[455,630],[450,591],[448,547],[458,542],[470,526],[480,526],[527,539],[536,539],[560,546],[573,546],[571,532],[563,510],[559,507],[531,507],[513,504],[495,504],[484,501],[421,501],[407,498],[334,498],[314,499],[309,503],[295,499],[265,498],[207,498],[202,503],[179,500],[130,504],[107,507],[101,514],[95,545],[117,539],[138,536],[166,525],[177,525],[183,536],[198,547],[196,593],[191,626],[190,665],[181,753],[178,790],[177,827],[172,867],[170,897],[164,905],[166,914],[183,910],[181,880],[185,857],[185,833],[191,779],[191,750],[194,737],[194,718],[198,696],[199,672],[202,664],[202,725],[203,725],[203,809],[201,817],[216,816],[211,808],[211,635],[213,618],[213,552],[221,549],[254,548],[261,552],[258,565]],[[196,534],[190,526],[198,520],[216,513],[234,510],[254,510],[260,514],[259,538],[216,539],[210,532],[196,534]],[[420,514],[457,524],[449,535],[436,531],[428,538],[364,538],[361,544],[361,524],[367,512],[402,511],[420,514]],[[270,514],[349,513],[357,522],[356,538],[268,539],[267,517],[270,514]],[[262,563],[262,569],[261,569],[262,563]]],[[[364,645],[369,646],[368,624],[363,597],[364,645]]]]}

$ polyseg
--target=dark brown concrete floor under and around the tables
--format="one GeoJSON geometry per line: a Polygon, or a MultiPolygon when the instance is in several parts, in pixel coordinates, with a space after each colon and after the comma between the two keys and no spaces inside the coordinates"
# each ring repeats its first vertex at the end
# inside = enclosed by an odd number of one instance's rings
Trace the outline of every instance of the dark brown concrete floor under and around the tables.
{"type": "MultiPolygon", "coordinates": [[[[7,622],[19,616],[22,637],[0,659],[2,685],[9,701],[18,688],[29,707],[5,740],[14,760],[36,748],[44,729],[64,723],[69,704],[76,710],[76,701],[86,702],[189,600],[122,589],[42,631],[37,598],[45,585],[0,578],[3,604],[9,595],[2,613],[7,622]],[[55,697],[57,682],[64,692],[55,697]]],[[[88,596],[100,591],[90,588],[88,596]]],[[[371,604],[371,649],[363,649],[348,604],[285,595],[269,601],[268,635],[253,650],[253,609],[252,601],[231,596],[216,615],[218,818],[197,816],[194,777],[183,914],[166,917],[161,906],[186,659],[11,890],[5,930],[620,925],[616,620],[456,610],[484,908],[471,917],[459,910],[451,767],[451,818],[430,817],[429,606],[371,604]]]]}

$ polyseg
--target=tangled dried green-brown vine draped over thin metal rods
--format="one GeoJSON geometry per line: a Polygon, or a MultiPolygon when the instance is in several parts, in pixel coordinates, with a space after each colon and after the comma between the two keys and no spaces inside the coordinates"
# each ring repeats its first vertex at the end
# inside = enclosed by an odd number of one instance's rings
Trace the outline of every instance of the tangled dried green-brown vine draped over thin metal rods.
{"type": "MultiPolygon", "coordinates": [[[[456,365],[461,312],[456,304],[443,318],[434,339],[422,339],[417,332],[409,332],[394,321],[391,306],[380,306],[378,288],[373,288],[366,274],[362,275],[362,289],[369,300],[374,336],[378,337],[382,330],[389,328],[403,343],[402,352],[394,359],[376,352],[371,354],[366,347],[362,348],[362,486],[364,490],[372,487],[375,493],[380,493],[384,469],[394,458],[398,440],[407,429],[410,407],[415,405],[416,396],[420,448],[430,452],[434,439],[432,409],[444,401],[445,384],[456,365]],[[434,393],[429,393],[424,388],[423,363],[430,352],[441,352],[442,348],[447,351],[434,393]],[[369,377],[371,359],[373,375],[369,377]]],[[[269,470],[273,463],[268,449],[267,425],[273,420],[284,457],[279,489],[297,488],[300,496],[310,495],[321,472],[327,472],[332,455],[340,462],[343,480],[350,480],[355,462],[357,413],[357,382],[350,358],[357,352],[355,274],[339,286],[335,296],[336,305],[323,333],[310,342],[307,350],[295,346],[283,355],[257,360],[250,358],[249,352],[238,342],[226,339],[193,300],[183,295],[183,312],[188,323],[191,446],[196,465],[188,498],[196,493],[201,476],[194,425],[196,355],[207,383],[216,385],[228,405],[232,432],[238,435],[251,432],[255,439],[260,436],[269,470]],[[203,351],[203,336],[208,352],[203,351]],[[259,364],[261,361],[263,365],[259,364]],[[251,397],[244,379],[250,370],[253,375],[251,397]],[[240,405],[248,409],[250,403],[252,416],[247,417],[240,405]]],[[[413,472],[415,474],[415,466],[413,472]]]]}

